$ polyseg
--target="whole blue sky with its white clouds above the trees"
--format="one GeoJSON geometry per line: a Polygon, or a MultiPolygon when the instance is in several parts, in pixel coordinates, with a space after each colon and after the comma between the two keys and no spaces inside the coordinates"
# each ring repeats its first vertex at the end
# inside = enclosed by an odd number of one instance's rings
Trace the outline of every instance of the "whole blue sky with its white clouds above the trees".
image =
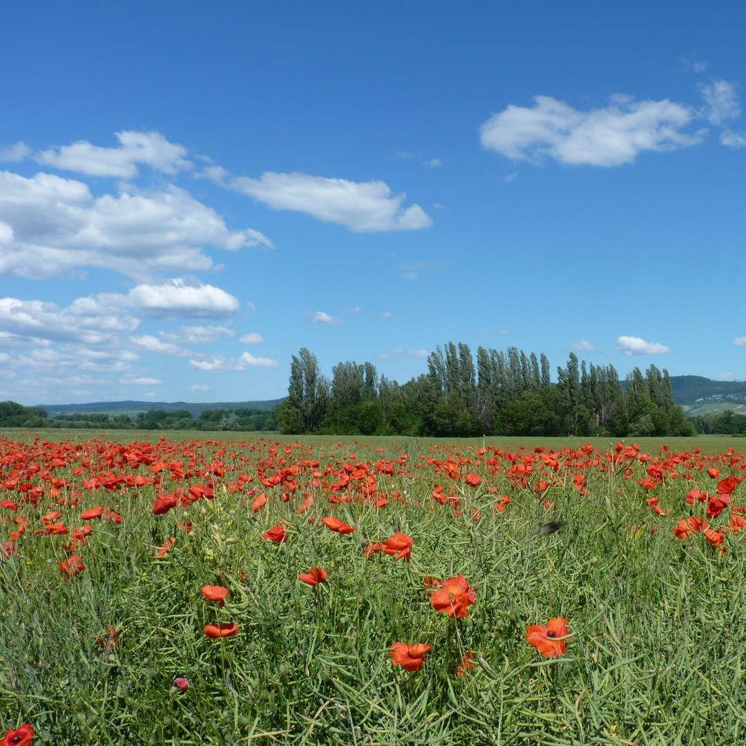
{"type": "Polygon", "coordinates": [[[0,10],[0,398],[452,340],[746,377],[746,6],[0,10]]]}

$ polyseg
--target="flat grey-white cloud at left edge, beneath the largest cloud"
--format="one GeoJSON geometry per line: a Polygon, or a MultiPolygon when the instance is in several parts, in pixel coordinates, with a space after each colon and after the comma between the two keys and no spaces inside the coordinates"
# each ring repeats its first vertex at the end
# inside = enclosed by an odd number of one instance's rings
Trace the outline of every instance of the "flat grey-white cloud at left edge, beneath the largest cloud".
{"type": "Polygon", "coordinates": [[[113,342],[117,333],[131,333],[140,322],[93,298],[78,298],[59,308],[44,301],[0,298],[0,327],[6,341],[113,342]]]}

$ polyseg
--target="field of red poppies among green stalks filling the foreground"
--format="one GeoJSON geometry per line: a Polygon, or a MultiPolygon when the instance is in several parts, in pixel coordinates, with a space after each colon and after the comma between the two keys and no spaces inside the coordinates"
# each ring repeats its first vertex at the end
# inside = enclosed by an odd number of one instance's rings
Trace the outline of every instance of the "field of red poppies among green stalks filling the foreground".
{"type": "Polygon", "coordinates": [[[745,743],[693,446],[3,436],[0,746],[745,743]]]}

